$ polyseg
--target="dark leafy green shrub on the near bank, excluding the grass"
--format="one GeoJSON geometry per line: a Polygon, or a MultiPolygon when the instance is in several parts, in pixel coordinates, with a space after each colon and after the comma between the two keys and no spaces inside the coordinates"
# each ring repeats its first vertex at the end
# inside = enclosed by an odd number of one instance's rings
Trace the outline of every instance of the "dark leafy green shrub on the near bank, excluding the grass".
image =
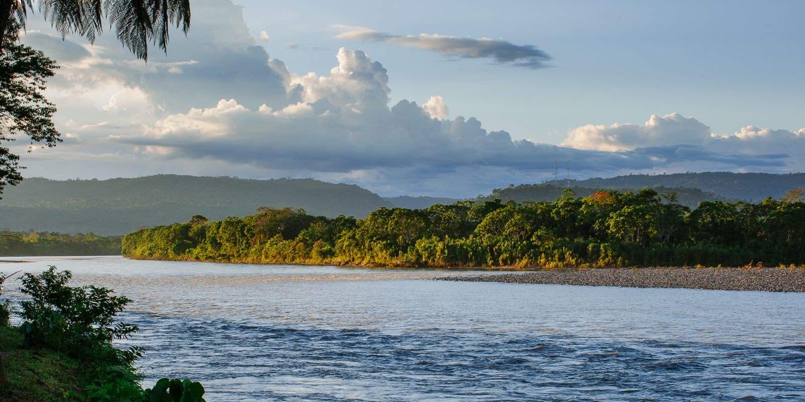
{"type": "Polygon", "coordinates": [[[68,285],[70,279],[72,273],[57,272],[55,266],[39,275],[23,275],[20,291],[30,299],[20,301],[23,317],[20,330],[24,347],[58,351],[59,355],[69,355],[81,363],[85,395],[76,396],[76,400],[204,401],[204,387],[188,380],[161,379],[153,389],[143,391],[142,375],[134,368],[142,350],[138,347],[118,349],[112,344],[114,339],[129,338],[138,330],[137,326],[117,319],[130,299],[114,296],[111,289],[73,287],[68,285]]]}

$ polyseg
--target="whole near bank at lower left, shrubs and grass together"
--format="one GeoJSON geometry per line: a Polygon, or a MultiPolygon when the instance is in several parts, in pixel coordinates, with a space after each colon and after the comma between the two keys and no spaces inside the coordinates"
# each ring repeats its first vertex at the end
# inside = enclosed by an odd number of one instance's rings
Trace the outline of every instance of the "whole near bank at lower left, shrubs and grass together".
{"type": "MultiPolygon", "coordinates": [[[[0,295],[16,274],[0,273],[0,295]]],[[[139,330],[118,321],[131,300],[102,287],[72,287],[71,278],[54,266],[24,273],[19,290],[26,297],[17,308],[0,301],[0,400],[204,402],[204,387],[186,379],[159,379],[143,389],[142,372],[134,367],[142,348],[113,345],[139,330]],[[12,315],[19,326],[10,325],[12,315]]]]}

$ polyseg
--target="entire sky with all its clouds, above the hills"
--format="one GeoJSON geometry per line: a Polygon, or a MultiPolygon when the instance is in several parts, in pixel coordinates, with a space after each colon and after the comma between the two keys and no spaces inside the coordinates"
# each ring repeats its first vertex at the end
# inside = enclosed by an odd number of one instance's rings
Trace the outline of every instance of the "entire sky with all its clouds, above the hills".
{"type": "MultiPolygon", "coordinates": [[[[629,173],[805,170],[805,2],[193,0],[167,55],[60,63],[27,176],[300,177],[464,197],[629,173]]],[[[15,150],[24,152],[20,141],[15,150]]]]}

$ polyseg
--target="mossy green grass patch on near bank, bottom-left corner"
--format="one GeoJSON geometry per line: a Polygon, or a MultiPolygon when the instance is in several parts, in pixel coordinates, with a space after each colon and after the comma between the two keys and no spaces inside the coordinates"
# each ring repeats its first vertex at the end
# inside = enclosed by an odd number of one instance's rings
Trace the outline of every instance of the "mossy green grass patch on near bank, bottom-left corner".
{"type": "Polygon", "coordinates": [[[0,387],[2,402],[73,402],[85,400],[81,366],[55,351],[23,348],[16,327],[0,327],[0,354],[9,383],[0,387]]]}

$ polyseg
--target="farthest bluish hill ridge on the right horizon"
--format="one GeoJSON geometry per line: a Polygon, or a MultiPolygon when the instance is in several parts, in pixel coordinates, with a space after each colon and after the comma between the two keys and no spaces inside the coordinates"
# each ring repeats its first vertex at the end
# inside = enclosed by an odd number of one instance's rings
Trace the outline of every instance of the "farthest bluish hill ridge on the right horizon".
{"type": "Polygon", "coordinates": [[[643,188],[653,186],[698,188],[726,199],[760,201],[766,197],[778,199],[791,189],[805,187],[805,173],[676,173],[629,174],[613,178],[588,178],[572,182],[578,187],[643,188]]]}

